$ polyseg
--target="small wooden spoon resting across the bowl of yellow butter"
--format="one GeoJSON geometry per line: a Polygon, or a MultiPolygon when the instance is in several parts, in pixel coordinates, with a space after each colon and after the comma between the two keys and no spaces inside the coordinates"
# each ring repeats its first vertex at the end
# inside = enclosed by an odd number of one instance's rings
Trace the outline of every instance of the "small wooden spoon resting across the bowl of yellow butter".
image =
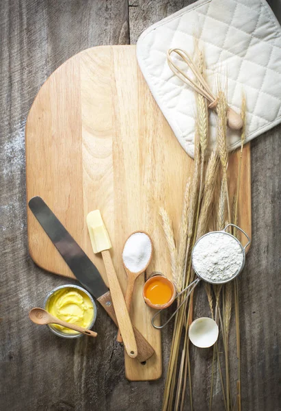
{"type": "Polygon", "coordinates": [[[86,336],[90,336],[90,337],[96,337],[98,335],[96,334],[96,332],[91,331],[90,329],[86,329],[86,328],[80,327],[79,325],[70,324],[70,323],[67,323],[66,321],[59,320],[57,319],[57,317],[53,316],[46,310],[43,310],[43,308],[32,308],[32,310],[29,311],[29,319],[31,319],[31,321],[39,325],[46,325],[46,324],[62,325],[63,327],[74,329],[75,331],[81,332],[82,334],[85,334],[86,336]]]}

